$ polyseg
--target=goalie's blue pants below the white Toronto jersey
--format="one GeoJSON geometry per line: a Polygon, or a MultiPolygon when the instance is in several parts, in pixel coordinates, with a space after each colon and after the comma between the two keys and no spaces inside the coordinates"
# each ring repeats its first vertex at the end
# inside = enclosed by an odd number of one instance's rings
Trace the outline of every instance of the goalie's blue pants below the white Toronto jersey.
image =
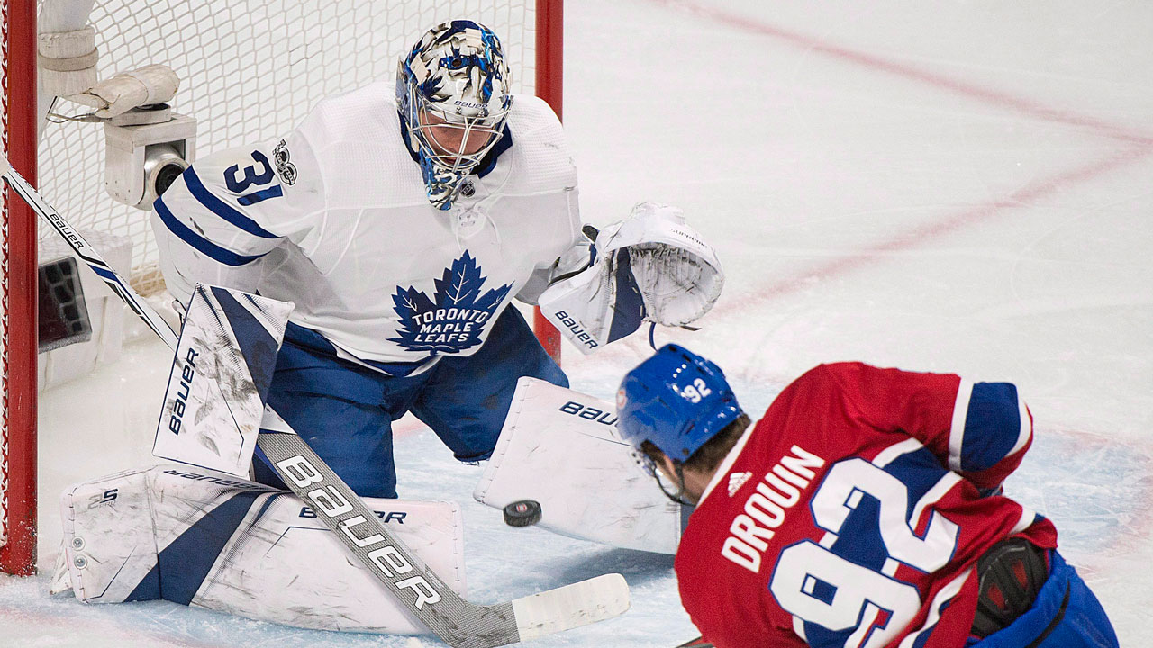
{"type": "MultiPolygon", "coordinates": [[[[521,376],[568,386],[512,307],[480,351],[444,356],[416,376],[339,359],[319,333],[289,324],[267,400],[357,495],[397,497],[393,421],[412,412],[460,461],[488,459],[521,376]]],[[[284,488],[264,461],[255,461],[254,472],[256,481],[284,488]]]]}

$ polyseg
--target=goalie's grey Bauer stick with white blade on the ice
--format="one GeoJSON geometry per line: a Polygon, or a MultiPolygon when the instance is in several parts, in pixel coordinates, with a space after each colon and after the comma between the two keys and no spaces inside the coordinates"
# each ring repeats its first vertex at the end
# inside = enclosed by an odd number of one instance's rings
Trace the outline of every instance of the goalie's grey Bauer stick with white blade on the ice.
{"type": "MultiPolygon", "coordinates": [[[[168,323],[12,168],[2,153],[0,176],[168,347],[176,348],[179,338],[168,323]]],[[[257,450],[297,497],[324,513],[318,518],[385,589],[450,646],[490,648],[515,643],[610,619],[628,609],[628,585],[616,573],[491,605],[466,601],[389,533],[274,410],[265,405],[264,412],[265,427],[272,429],[261,430],[257,450]]]]}

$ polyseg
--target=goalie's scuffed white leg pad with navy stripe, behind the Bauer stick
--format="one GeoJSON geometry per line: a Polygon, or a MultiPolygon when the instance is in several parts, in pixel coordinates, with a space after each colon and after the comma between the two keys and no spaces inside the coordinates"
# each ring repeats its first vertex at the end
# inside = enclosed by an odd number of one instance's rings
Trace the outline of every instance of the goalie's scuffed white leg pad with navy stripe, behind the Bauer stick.
{"type": "MultiPolygon", "coordinates": [[[[366,502],[465,593],[459,505],[366,502]]],[[[428,632],[291,493],[167,465],[74,487],[61,510],[73,589],[85,603],[163,598],[297,627],[428,632]]]]}

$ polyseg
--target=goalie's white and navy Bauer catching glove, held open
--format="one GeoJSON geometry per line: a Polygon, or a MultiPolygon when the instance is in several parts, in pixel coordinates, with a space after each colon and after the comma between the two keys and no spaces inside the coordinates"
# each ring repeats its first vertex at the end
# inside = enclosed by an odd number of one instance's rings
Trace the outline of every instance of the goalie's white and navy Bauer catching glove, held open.
{"type": "Polygon", "coordinates": [[[544,316],[586,354],[645,321],[694,322],[724,286],[713,248],[679,209],[660,203],[640,203],[628,218],[601,231],[589,258],[585,270],[562,274],[540,297],[544,316]]]}

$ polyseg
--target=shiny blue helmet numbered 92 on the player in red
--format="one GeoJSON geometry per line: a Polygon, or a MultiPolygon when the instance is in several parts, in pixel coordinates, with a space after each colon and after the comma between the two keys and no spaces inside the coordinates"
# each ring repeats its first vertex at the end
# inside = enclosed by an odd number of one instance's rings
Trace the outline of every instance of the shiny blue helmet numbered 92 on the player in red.
{"type": "Polygon", "coordinates": [[[673,461],[688,459],[740,414],[721,368],[677,345],[636,366],[617,392],[621,437],[634,447],[649,440],[673,461]]]}

